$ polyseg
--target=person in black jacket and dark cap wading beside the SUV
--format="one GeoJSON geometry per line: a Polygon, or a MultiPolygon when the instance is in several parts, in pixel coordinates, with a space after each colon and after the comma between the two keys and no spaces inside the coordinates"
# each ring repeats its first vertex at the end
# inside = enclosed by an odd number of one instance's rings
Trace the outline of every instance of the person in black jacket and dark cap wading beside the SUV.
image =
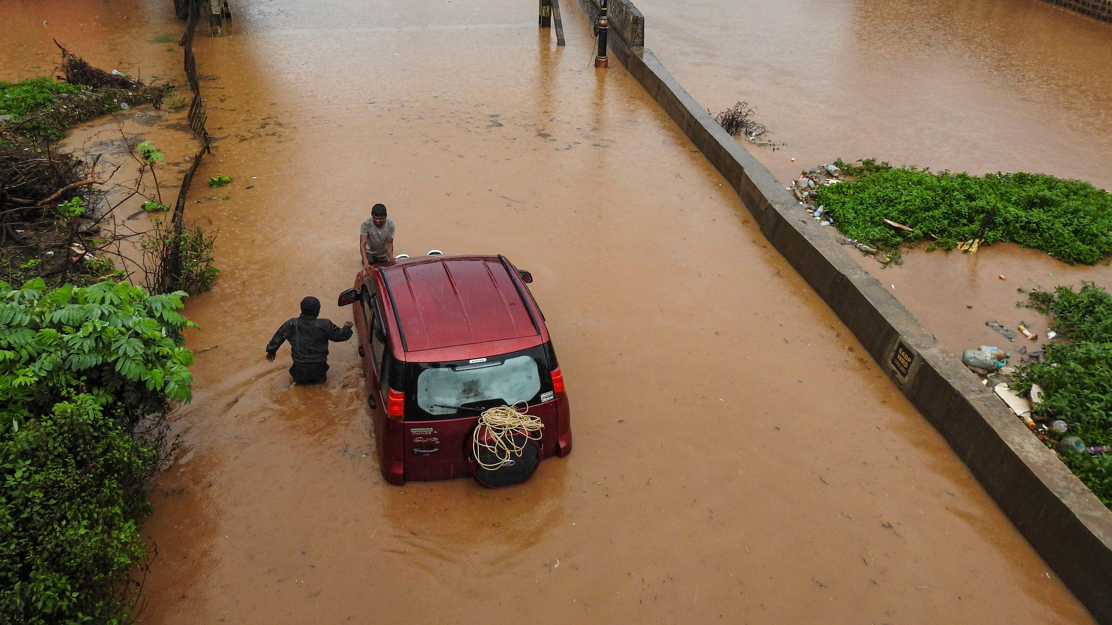
{"type": "Polygon", "coordinates": [[[289,375],[297,384],[324,381],[328,373],[328,341],[340,343],[351,338],[351,321],[337,327],[328,319],[318,319],[320,301],[315,297],[301,300],[301,316],[286,321],[267,344],[267,361],[274,363],[281,344],[289,341],[294,366],[289,375]]]}

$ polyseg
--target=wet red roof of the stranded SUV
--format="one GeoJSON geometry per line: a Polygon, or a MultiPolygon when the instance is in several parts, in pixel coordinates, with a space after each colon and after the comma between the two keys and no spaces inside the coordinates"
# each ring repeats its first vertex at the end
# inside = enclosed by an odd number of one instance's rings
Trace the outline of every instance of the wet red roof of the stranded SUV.
{"type": "Polygon", "coordinates": [[[394,311],[384,311],[394,317],[387,325],[406,353],[436,350],[436,359],[453,360],[467,351],[445,348],[547,340],[539,309],[500,255],[409,258],[380,268],[379,277],[394,311]]]}

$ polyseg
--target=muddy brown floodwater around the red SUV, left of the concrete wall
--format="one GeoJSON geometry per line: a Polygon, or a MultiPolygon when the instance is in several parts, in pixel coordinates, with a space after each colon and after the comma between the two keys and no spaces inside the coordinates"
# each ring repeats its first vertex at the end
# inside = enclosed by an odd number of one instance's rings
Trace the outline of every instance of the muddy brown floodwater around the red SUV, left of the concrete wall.
{"type": "Polygon", "coordinates": [[[189,205],[222,271],[187,309],[143,623],[1090,622],[668,118],[589,69],[574,4],[559,49],[529,2],[232,10],[197,39],[201,172],[235,182],[189,205]],[[302,296],[350,318],[376,201],[399,252],[533,271],[570,456],[388,486],[356,346],[324,386],[264,360],[302,296]]]}

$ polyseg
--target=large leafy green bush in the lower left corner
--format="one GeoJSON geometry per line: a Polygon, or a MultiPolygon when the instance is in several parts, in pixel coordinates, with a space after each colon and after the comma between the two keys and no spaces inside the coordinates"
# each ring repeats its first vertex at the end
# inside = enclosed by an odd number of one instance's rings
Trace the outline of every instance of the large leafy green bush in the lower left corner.
{"type": "Polygon", "coordinates": [[[0,623],[122,623],[143,483],[188,401],[183,292],[0,282],[0,623]]]}

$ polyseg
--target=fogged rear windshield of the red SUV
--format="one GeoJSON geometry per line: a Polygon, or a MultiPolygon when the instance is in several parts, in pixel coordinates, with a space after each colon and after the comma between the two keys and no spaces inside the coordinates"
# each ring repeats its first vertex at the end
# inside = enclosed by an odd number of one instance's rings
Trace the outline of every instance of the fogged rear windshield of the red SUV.
{"type": "Polygon", "coordinates": [[[494,406],[536,404],[552,390],[544,346],[454,363],[413,363],[406,420],[477,416],[494,406]]]}

